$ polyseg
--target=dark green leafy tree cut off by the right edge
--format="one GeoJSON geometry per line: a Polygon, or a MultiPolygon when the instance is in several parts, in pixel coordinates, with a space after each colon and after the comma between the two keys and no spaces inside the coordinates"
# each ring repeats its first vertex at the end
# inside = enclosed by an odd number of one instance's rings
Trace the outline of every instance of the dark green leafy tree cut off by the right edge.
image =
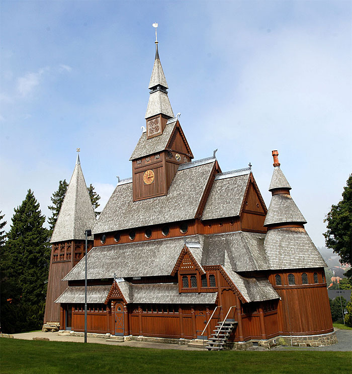
{"type": "MultiPolygon", "coordinates": [[[[351,263],[352,248],[352,174],[343,188],[342,200],[332,205],[324,222],[327,222],[325,244],[341,257],[341,263],[351,263]]],[[[350,272],[349,272],[350,274],[350,272]]],[[[350,276],[350,275],[349,275],[350,276]]]]}

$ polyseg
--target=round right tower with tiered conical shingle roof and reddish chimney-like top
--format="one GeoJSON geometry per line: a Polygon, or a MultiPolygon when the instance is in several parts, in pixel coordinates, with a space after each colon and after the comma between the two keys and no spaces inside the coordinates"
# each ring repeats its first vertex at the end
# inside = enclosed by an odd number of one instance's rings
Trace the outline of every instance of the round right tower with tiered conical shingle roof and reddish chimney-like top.
{"type": "Polygon", "coordinates": [[[264,222],[268,228],[264,248],[271,269],[269,281],[281,297],[280,333],[291,335],[288,339],[296,344],[304,344],[311,335],[318,335],[313,337],[317,345],[332,344],[336,338],[324,275],[326,264],[304,229],[307,221],[290,195],[291,186],[280,168],[279,153],[272,153],[272,200],[264,222]]]}

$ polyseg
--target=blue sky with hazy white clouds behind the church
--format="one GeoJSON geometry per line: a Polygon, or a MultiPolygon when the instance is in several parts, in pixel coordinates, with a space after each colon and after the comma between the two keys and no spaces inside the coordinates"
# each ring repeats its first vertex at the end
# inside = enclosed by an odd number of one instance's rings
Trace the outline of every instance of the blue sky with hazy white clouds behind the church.
{"type": "Polygon", "coordinates": [[[195,159],[250,162],[269,207],[272,150],[316,246],[351,172],[351,2],[2,1],[6,229],[31,189],[48,217],[80,148],[106,204],[145,126],[157,22],[173,112],[195,159]]]}

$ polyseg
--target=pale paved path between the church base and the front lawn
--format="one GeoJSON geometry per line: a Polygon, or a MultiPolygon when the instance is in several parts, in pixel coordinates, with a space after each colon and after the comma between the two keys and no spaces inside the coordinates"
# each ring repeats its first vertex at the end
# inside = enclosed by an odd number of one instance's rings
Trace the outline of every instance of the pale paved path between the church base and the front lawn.
{"type": "MultiPolygon", "coordinates": [[[[315,350],[315,351],[352,351],[352,330],[335,330],[338,340],[337,344],[327,345],[324,347],[274,347],[271,350],[315,350]]],[[[25,332],[13,334],[15,339],[32,340],[34,337],[45,337],[51,341],[72,341],[84,342],[82,336],[59,335],[57,332],[25,332]]],[[[187,347],[187,345],[151,343],[145,341],[130,340],[125,342],[108,341],[102,338],[87,338],[88,343],[100,343],[108,345],[120,345],[137,348],[156,348],[156,349],[180,349],[180,350],[200,350],[200,348],[187,347]]],[[[254,348],[254,347],[253,347],[254,348]]],[[[260,347],[259,347],[260,348],[260,347]]],[[[255,348],[253,350],[256,350],[255,348]]]]}

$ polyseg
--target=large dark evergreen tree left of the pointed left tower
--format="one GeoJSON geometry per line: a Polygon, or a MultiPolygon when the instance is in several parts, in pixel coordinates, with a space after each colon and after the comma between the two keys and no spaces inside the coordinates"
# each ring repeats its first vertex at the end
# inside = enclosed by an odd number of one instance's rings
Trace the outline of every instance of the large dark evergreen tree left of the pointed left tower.
{"type": "Polygon", "coordinates": [[[1,327],[13,333],[43,323],[50,250],[45,217],[33,192],[15,209],[8,240],[1,247],[1,327]]]}

